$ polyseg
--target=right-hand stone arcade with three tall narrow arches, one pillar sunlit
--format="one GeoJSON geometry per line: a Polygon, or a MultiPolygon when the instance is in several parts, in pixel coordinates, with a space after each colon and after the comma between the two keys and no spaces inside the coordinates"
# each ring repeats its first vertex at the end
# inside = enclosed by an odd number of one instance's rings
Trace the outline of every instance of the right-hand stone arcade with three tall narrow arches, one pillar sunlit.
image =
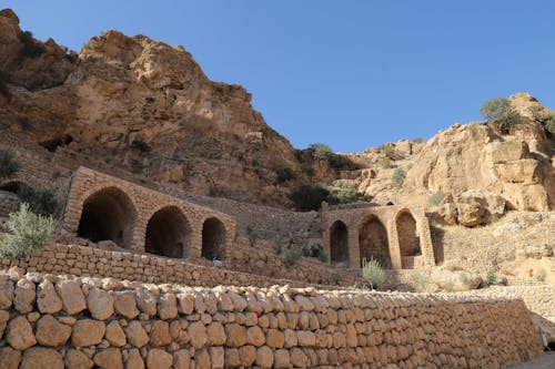
{"type": "MultiPolygon", "coordinates": [[[[359,268],[362,258],[379,257],[383,258],[389,254],[390,260],[385,263],[394,269],[408,269],[414,267],[430,267],[435,265],[434,247],[430,234],[430,224],[421,206],[376,206],[376,207],[355,207],[355,208],[334,208],[323,206],[322,208],[322,229],[323,244],[327,255],[334,253],[334,247],[344,247],[334,245],[334,230],[347,229],[347,252],[349,266],[359,268]],[[411,219],[412,224],[407,224],[411,219]],[[365,237],[364,230],[367,229],[369,222],[377,222],[386,232],[387,243],[375,247],[362,247],[362,243],[372,242],[365,237]],[[337,226],[341,227],[337,227],[337,226]],[[405,237],[406,233],[414,234],[412,237],[405,237]],[[407,245],[408,243],[408,245],[407,245]],[[376,247],[387,248],[376,255],[363,255],[361,250],[375,249],[376,247]]],[[[332,257],[332,262],[333,257],[332,257]]]]}

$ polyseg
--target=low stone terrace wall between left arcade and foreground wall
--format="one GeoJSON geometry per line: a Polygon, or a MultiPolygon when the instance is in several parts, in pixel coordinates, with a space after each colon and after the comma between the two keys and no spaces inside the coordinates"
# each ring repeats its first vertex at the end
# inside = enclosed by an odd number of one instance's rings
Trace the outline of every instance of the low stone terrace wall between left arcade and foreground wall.
{"type": "MultiPolygon", "coordinates": [[[[300,262],[293,270],[306,267],[306,263],[309,262],[304,262],[304,264],[300,262]]],[[[56,245],[24,260],[0,259],[1,268],[16,267],[18,270],[27,273],[47,271],[75,276],[112,277],[141,283],[174,283],[205,287],[218,285],[265,287],[279,284],[305,287],[319,281],[326,284],[329,279],[332,281],[334,279],[332,273],[325,269],[323,273],[320,271],[307,279],[292,280],[293,278],[286,278],[286,273],[276,274],[274,275],[275,278],[272,278],[263,274],[254,275],[230,270],[211,264],[211,262],[200,258],[170,259],[149,254],[104,250],[77,245],[56,245]]],[[[312,266],[312,269],[309,270],[316,270],[316,267],[312,266]]],[[[292,271],[291,275],[295,277],[297,274],[292,271]]],[[[344,284],[351,281],[346,278],[342,279],[344,284]]]]}

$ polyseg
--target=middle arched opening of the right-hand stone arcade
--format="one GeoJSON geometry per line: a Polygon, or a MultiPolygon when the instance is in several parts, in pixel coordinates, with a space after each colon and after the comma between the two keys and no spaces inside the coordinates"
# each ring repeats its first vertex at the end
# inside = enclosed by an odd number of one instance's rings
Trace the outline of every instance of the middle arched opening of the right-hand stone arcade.
{"type": "MultiPolygon", "coordinates": [[[[391,268],[387,230],[375,215],[367,217],[359,228],[361,263],[364,258],[376,259],[382,268],[391,268]]],[[[362,265],[362,264],[361,264],[362,265]]]]}

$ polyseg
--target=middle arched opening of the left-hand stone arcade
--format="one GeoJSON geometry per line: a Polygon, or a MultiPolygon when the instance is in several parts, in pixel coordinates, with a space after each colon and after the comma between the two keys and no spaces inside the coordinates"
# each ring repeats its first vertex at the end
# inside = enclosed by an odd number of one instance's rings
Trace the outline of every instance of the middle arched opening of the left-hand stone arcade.
{"type": "Polygon", "coordinates": [[[147,224],[147,253],[185,257],[190,246],[191,227],[183,212],[176,206],[161,208],[147,224]]]}

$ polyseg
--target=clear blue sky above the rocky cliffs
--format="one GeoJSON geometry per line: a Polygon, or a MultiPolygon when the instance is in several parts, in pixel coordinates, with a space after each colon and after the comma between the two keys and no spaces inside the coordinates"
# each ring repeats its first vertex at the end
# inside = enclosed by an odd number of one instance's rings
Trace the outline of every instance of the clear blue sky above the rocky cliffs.
{"type": "Polygon", "coordinates": [[[528,91],[555,109],[555,2],[2,1],[41,40],[79,50],[108,29],[182,44],[240,83],[299,148],[357,152],[480,120],[528,91]]]}

